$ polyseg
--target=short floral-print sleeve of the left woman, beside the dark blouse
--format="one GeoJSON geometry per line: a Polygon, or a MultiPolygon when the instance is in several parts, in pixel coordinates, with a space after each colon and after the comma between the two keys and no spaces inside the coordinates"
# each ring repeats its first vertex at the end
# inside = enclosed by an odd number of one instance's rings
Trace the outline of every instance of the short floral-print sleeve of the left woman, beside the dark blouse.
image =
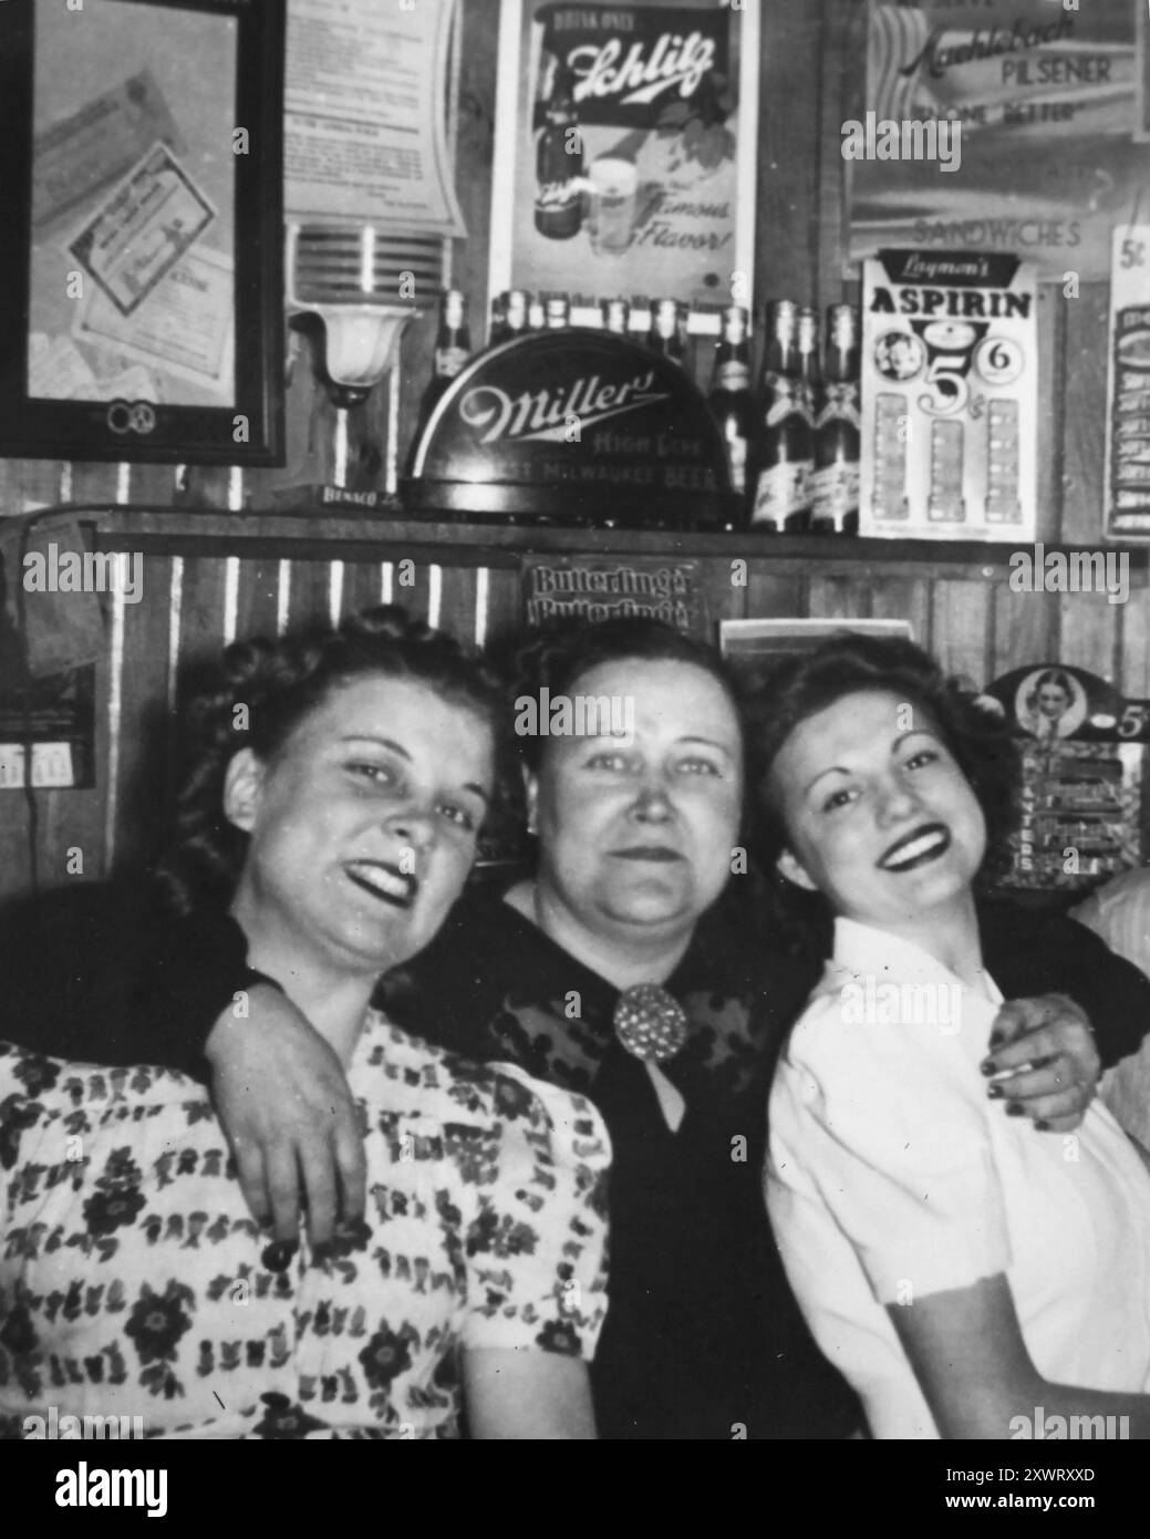
{"type": "Polygon", "coordinates": [[[466,1231],[465,1347],[593,1357],[607,1313],[602,1117],[582,1096],[500,1063],[497,1170],[466,1231]]]}

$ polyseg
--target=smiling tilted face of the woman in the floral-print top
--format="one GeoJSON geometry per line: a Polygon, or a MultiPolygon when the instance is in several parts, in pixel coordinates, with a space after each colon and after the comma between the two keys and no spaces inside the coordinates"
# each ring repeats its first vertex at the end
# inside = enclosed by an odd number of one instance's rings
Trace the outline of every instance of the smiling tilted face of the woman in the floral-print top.
{"type": "Polygon", "coordinates": [[[328,970],[405,962],[459,897],[491,780],[465,705],[383,676],[336,688],[269,763],[245,749],[228,770],[225,811],[251,834],[240,923],[328,970]]]}

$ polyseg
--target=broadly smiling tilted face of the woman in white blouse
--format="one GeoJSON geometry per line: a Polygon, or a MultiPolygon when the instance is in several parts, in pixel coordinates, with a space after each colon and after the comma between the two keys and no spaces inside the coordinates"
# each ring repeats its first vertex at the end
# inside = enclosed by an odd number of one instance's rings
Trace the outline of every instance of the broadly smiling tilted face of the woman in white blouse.
{"type": "Polygon", "coordinates": [[[970,899],[987,825],[934,723],[887,691],[844,696],[787,739],[770,776],[784,876],[836,914],[914,928],[970,899]]]}

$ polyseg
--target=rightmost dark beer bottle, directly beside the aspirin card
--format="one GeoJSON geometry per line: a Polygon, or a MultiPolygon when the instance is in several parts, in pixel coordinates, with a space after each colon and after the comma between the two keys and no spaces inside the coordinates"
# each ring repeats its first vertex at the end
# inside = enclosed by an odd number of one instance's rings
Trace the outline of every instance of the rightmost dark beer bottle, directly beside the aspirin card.
{"type": "Polygon", "coordinates": [[[811,529],[859,532],[859,317],[851,305],[827,311],[827,368],[814,425],[811,529]]]}

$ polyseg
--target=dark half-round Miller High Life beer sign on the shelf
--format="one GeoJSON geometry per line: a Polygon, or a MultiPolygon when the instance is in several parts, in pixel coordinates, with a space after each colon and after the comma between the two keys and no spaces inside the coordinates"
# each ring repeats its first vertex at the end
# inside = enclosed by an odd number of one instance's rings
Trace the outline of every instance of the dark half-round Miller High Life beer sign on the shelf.
{"type": "Polygon", "coordinates": [[[414,511],[628,528],[733,516],[727,452],[684,371],[573,328],[491,348],[437,403],[402,486],[414,511]]]}

